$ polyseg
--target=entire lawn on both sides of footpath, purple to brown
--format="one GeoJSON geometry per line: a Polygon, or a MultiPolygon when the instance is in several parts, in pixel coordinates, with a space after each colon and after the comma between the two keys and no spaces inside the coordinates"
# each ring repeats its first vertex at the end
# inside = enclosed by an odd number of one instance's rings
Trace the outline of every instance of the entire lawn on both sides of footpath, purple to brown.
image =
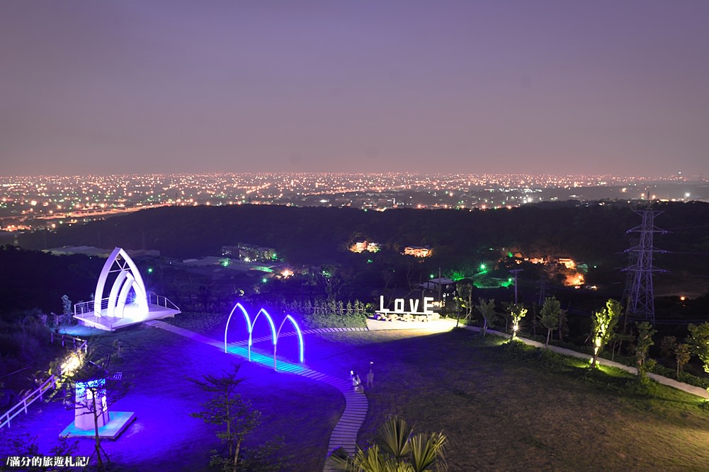
{"type": "MultiPolygon", "coordinates": [[[[218,339],[208,324],[196,330],[218,339]]],[[[184,376],[224,371],[242,359],[155,328],[104,335],[106,342],[115,337],[123,344],[121,369],[134,377],[135,388],[113,410],[138,416],[118,441],[104,442],[118,470],[208,470],[208,450],[218,440],[213,427],[189,417],[204,398],[184,376]]],[[[279,354],[292,359],[294,339],[279,344],[279,354]]],[[[663,386],[649,395],[622,373],[589,375],[576,359],[500,342],[467,330],[307,335],[306,364],[340,378],[356,369],[364,378],[373,361],[360,442],[396,413],[418,431],[447,434],[451,471],[709,470],[709,411],[700,398],[663,386]]],[[[271,348],[266,342],[255,349],[271,348]]],[[[285,451],[295,455],[289,470],[322,470],[342,395],[254,364],[243,364],[240,376],[247,378],[242,395],[262,411],[250,443],[280,434],[285,451]]],[[[0,435],[33,432],[48,451],[72,412],[48,403],[18,420],[0,435]]],[[[0,437],[3,463],[11,452],[5,443],[0,437]]],[[[84,451],[91,447],[81,444],[84,451]]]]}

